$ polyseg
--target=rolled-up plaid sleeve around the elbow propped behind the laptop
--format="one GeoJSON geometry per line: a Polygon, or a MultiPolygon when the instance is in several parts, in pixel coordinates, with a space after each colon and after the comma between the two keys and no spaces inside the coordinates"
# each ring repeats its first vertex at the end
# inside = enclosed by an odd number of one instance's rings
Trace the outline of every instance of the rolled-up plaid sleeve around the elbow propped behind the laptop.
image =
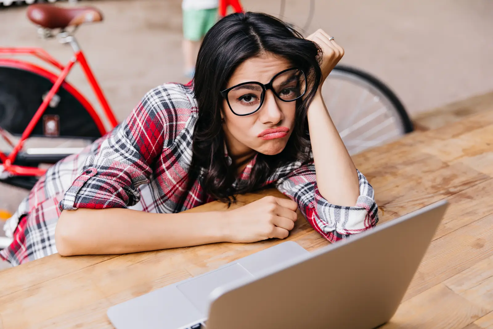
{"type": "Polygon", "coordinates": [[[277,188],[298,203],[298,208],[318,233],[331,242],[373,227],[378,207],[373,188],[358,171],[359,197],[353,207],[333,205],[318,192],[313,163],[305,164],[279,180],[277,188]]]}

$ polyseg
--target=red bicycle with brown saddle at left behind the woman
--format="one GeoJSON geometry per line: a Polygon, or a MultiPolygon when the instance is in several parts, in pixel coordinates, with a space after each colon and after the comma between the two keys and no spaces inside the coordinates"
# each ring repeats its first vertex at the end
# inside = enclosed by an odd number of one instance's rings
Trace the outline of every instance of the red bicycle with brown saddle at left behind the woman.
{"type": "Polygon", "coordinates": [[[59,71],[53,73],[31,62],[0,57],[0,135],[4,146],[11,149],[0,150],[0,182],[30,189],[46,171],[41,164],[54,164],[80,150],[63,146],[87,145],[118,122],[74,37],[80,25],[103,21],[103,14],[91,6],[34,4],[28,7],[27,15],[40,27],[41,37],[57,38],[70,45],[74,54],[69,63],[62,65],[41,48],[0,48],[0,55],[32,55],[59,71]],[[76,63],[103,113],[65,80],[76,63]]]}

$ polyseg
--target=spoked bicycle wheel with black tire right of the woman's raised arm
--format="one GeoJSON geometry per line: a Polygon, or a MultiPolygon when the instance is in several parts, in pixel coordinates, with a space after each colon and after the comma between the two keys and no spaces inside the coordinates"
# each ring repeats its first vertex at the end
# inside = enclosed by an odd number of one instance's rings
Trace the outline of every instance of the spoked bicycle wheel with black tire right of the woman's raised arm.
{"type": "Polygon", "coordinates": [[[338,65],[323,84],[322,95],[350,154],[413,131],[397,96],[369,73],[338,65]]]}

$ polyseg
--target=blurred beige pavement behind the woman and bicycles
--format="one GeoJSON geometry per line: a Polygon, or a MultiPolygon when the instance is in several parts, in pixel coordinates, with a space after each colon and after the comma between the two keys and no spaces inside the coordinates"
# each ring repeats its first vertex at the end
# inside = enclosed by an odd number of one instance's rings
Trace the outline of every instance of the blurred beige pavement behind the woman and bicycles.
{"type": "MultiPolygon", "coordinates": [[[[1,0],[0,0],[1,2],[1,0]]],[[[493,107],[493,1],[490,0],[243,0],[304,28],[322,28],[342,45],[342,64],[372,73],[399,97],[418,130],[439,127],[493,107]],[[311,19],[310,19],[311,18],[311,19]]],[[[67,2],[61,3],[67,5],[67,2]]],[[[76,37],[119,121],[149,89],[187,82],[181,52],[181,0],[82,0],[105,21],[80,27],[76,37]]],[[[0,5],[0,47],[47,50],[62,63],[69,46],[40,39],[26,5],[0,5]]],[[[68,80],[93,104],[76,68],[68,80]]],[[[0,183],[0,209],[14,212],[27,191],[0,183]]],[[[0,232],[1,235],[1,232],[0,232]]]]}

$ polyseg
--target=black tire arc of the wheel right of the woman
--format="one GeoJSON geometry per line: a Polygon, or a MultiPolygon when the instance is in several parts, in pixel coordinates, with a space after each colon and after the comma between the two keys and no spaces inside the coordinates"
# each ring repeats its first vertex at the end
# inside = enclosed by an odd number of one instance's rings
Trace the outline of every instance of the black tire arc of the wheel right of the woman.
{"type": "Polygon", "coordinates": [[[407,113],[406,109],[404,108],[404,105],[402,102],[399,100],[397,95],[380,79],[375,77],[374,75],[364,72],[360,69],[356,69],[350,66],[346,65],[337,65],[333,70],[333,72],[345,72],[345,73],[350,73],[358,76],[362,80],[366,80],[369,84],[373,85],[376,89],[378,89],[389,101],[389,103],[392,105],[393,110],[397,112],[397,114],[400,116],[400,120],[403,126],[403,131],[408,134],[414,131],[414,125],[411,119],[409,118],[409,114],[407,113]]]}

